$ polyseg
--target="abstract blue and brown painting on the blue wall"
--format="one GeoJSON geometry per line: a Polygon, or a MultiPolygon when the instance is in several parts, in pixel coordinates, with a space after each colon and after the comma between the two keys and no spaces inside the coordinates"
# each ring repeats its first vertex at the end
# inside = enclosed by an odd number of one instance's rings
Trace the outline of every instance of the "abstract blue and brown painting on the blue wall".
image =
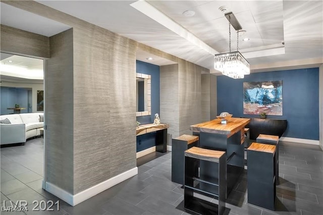
{"type": "Polygon", "coordinates": [[[283,116],[283,81],[243,82],[243,114],[283,116]]]}

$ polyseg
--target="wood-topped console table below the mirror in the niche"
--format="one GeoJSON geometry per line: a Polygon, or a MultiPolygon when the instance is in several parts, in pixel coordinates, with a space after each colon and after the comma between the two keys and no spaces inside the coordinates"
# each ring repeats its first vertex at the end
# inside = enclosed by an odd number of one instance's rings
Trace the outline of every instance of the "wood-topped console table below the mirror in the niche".
{"type": "Polygon", "coordinates": [[[161,124],[145,124],[137,126],[136,135],[147,134],[151,132],[156,132],[156,151],[167,152],[167,129],[169,128],[168,123],[161,124]]]}

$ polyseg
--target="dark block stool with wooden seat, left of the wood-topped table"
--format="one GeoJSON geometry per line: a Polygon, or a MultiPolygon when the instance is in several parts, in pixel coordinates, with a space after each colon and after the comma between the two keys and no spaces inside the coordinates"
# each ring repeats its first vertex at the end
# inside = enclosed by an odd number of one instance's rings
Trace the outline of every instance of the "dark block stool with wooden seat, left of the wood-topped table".
{"type": "Polygon", "coordinates": [[[197,146],[198,140],[187,134],[172,139],[172,182],[184,184],[184,151],[197,146]]]}

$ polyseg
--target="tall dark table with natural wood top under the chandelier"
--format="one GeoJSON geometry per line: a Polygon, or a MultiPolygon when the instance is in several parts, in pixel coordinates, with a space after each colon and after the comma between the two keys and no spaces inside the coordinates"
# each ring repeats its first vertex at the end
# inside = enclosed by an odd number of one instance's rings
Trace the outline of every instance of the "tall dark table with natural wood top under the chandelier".
{"type": "MultiPolygon", "coordinates": [[[[221,124],[221,119],[215,119],[190,126],[193,132],[199,132],[201,148],[226,151],[227,159],[227,194],[234,188],[244,170],[244,127],[250,122],[246,118],[230,118],[227,124],[221,124]]],[[[200,178],[218,178],[212,167],[200,160],[200,178]]],[[[207,184],[202,187],[216,193],[217,189],[207,184]]]]}

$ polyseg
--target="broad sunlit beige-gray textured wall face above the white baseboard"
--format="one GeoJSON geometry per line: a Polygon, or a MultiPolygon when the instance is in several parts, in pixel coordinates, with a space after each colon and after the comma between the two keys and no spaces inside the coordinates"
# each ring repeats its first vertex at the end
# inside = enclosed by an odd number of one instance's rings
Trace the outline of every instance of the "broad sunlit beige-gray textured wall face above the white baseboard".
{"type": "Polygon", "coordinates": [[[137,166],[136,46],[74,29],[74,194],[137,166]]]}

